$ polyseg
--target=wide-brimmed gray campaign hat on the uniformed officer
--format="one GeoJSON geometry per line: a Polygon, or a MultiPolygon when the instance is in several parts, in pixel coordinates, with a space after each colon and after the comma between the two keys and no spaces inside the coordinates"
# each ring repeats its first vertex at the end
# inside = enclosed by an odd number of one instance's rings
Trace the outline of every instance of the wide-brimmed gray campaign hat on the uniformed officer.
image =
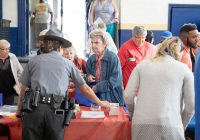
{"type": "Polygon", "coordinates": [[[63,48],[72,46],[72,43],[68,40],[68,36],[56,28],[49,29],[44,35],[37,38],[38,41],[44,41],[47,39],[58,40],[63,44],[63,48]]]}

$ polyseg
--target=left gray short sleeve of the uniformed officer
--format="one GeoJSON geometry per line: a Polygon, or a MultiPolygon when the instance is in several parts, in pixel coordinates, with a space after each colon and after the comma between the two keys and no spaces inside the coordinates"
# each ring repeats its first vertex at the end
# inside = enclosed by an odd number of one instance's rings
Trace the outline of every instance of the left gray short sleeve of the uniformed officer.
{"type": "Polygon", "coordinates": [[[19,77],[19,82],[22,85],[25,85],[27,87],[31,86],[31,75],[30,75],[30,71],[29,71],[29,63],[26,65],[21,76],[19,77]]]}

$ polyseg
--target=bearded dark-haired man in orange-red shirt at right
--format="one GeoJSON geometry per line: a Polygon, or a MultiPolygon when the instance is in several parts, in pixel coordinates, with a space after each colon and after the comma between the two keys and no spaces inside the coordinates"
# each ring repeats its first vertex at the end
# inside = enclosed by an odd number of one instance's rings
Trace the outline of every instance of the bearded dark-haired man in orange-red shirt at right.
{"type": "Polygon", "coordinates": [[[180,38],[183,42],[181,62],[185,63],[192,70],[190,48],[197,48],[198,30],[195,24],[184,24],[180,30],[180,38]]]}

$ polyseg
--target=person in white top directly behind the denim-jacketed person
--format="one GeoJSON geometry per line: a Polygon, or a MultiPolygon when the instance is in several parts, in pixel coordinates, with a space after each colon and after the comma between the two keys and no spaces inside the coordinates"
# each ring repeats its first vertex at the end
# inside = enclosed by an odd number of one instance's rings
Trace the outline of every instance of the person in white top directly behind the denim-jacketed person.
{"type": "MultiPolygon", "coordinates": [[[[115,43],[113,42],[113,39],[112,39],[112,37],[110,36],[110,34],[109,34],[108,32],[106,32],[106,24],[105,24],[104,22],[99,22],[99,23],[98,23],[97,29],[102,30],[102,31],[105,32],[105,35],[106,35],[107,38],[108,38],[107,48],[108,48],[110,51],[112,51],[112,52],[114,52],[114,53],[117,54],[117,52],[118,52],[117,47],[116,47],[115,43]]],[[[86,45],[86,47],[85,47],[84,54],[85,54],[85,57],[86,57],[86,58],[87,58],[89,55],[93,55],[93,54],[94,54],[94,52],[92,51],[92,44],[91,44],[91,39],[90,39],[90,38],[88,39],[88,43],[87,43],[87,45],[86,45]]]]}

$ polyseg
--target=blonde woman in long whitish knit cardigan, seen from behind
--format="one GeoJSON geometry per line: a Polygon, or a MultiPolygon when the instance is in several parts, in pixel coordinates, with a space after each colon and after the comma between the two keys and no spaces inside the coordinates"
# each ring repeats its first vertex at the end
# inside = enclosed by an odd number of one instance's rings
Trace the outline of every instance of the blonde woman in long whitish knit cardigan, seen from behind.
{"type": "Polygon", "coordinates": [[[167,38],[130,76],[124,100],[133,120],[132,140],[184,140],[194,114],[194,77],[179,62],[180,43],[178,37],[167,38]]]}

